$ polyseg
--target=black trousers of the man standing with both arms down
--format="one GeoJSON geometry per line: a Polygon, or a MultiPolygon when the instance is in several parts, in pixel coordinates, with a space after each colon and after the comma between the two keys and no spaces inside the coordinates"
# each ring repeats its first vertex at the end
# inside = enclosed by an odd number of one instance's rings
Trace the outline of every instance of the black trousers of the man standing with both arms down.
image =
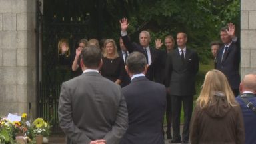
{"type": "Polygon", "coordinates": [[[173,140],[189,141],[189,123],[193,111],[193,95],[171,95],[171,104],[173,119],[173,140]],[[182,132],[182,139],[180,135],[181,104],[183,104],[184,111],[184,126],[182,132]]]}

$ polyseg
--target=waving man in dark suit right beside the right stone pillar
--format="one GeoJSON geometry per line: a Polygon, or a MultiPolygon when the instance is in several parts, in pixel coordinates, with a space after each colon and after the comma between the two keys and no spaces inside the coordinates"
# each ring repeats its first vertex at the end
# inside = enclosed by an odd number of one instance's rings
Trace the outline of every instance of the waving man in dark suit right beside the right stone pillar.
{"type": "Polygon", "coordinates": [[[223,72],[231,89],[237,97],[240,84],[240,43],[235,36],[235,25],[229,23],[228,27],[221,28],[221,41],[224,43],[217,52],[217,69],[223,72]]]}

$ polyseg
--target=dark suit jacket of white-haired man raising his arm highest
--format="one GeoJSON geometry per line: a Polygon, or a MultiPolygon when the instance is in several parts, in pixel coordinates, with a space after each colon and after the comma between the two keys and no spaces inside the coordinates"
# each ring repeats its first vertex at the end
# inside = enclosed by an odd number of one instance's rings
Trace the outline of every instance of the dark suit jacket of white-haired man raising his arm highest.
{"type": "MultiPolygon", "coordinates": [[[[131,43],[131,41],[127,35],[122,36],[122,39],[123,39],[123,44],[129,51],[129,53],[132,53],[133,51],[139,51],[145,55],[144,48],[141,45],[139,45],[138,43],[131,43]]],[[[149,65],[149,68],[147,69],[146,77],[147,77],[147,79],[153,81],[154,69],[155,69],[156,65],[159,65],[159,63],[161,63],[161,59],[160,59],[160,54],[156,49],[153,49],[151,47],[149,47],[149,49],[150,49],[152,63],[151,63],[151,65],[149,65]]]]}

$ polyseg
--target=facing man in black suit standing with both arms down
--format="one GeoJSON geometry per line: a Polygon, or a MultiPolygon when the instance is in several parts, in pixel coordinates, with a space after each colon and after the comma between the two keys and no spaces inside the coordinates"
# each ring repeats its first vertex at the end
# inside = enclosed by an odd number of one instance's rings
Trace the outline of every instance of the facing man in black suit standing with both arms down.
{"type": "Polygon", "coordinates": [[[178,49],[168,53],[166,61],[166,83],[169,87],[172,105],[173,139],[172,143],[188,143],[189,123],[195,95],[195,75],[199,70],[199,57],[196,51],[186,46],[187,34],[177,34],[178,49]],[[184,110],[184,127],[180,136],[181,105],[184,110]]]}

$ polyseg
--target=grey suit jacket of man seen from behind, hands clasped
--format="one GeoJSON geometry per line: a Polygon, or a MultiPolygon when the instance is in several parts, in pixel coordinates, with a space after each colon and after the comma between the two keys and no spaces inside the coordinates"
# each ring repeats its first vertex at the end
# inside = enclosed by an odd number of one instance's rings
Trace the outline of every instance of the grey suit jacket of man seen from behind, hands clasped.
{"type": "Polygon", "coordinates": [[[62,84],[58,113],[69,144],[96,139],[119,143],[128,126],[120,86],[97,72],[83,73],[62,84]]]}

